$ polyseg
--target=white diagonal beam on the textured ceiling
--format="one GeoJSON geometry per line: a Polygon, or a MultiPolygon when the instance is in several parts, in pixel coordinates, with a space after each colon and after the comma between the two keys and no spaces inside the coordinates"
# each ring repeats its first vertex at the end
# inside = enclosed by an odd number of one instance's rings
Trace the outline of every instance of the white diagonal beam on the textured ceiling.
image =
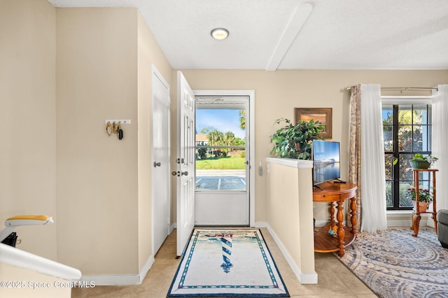
{"type": "Polygon", "coordinates": [[[277,43],[275,50],[272,53],[271,59],[266,66],[266,70],[273,71],[279,67],[281,60],[285,57],[286,52],[288,52],[295,36],[297,36],[300,29],[302,29],[303,24],[311,14],[311,10],[313,10],[313,6],[311,6],[310,3],[303,3],[295,8],[283,34],[281,34],[279,43],[277,43]]]}

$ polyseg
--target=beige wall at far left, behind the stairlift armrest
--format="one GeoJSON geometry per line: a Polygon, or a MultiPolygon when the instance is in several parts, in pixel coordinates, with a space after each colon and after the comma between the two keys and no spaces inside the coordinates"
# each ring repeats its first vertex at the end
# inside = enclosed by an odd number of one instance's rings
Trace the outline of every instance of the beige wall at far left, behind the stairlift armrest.
{"type": "Polygon", "coordinates": [[[0,1],[0,229],[6,218],[46,214],[20,227],[20,248],[56,259],[55,8],[0,1]]]}

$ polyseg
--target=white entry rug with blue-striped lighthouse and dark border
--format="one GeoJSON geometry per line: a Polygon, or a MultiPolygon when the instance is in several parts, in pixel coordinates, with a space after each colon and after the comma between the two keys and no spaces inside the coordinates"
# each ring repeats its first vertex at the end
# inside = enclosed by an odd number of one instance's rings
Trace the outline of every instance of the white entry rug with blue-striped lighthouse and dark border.
{"type": "Polygon", "coordinates": [[[167,297],[289,297],[260,230],[196,229],[167,297]]]}

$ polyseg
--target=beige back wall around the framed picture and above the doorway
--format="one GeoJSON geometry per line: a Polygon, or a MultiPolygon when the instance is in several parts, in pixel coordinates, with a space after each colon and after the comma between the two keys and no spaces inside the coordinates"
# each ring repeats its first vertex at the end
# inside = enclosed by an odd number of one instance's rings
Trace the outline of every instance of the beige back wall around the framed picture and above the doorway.
{"type": "MultiPolygon", "coordinates": [[[[193,89],[255,90],[255,161],[269,156],[276,119],[294,119],[294,107],[332,107],[332,140],[341,142],[342,179],[348,174],[349,91],[359,83],[382,87],[433,87],[448,82],[448,70],[182,70],[193,89]]],[[[172,114],[174,117],[174,113],[172,114]]],[[[173,126],[175,127],[175,126],[173,126]]],[[[255,178],[255,221],[266,221],[266,175],[255,178]]],[[[316,220],[328,218],[318,204],[316,220]]]]}

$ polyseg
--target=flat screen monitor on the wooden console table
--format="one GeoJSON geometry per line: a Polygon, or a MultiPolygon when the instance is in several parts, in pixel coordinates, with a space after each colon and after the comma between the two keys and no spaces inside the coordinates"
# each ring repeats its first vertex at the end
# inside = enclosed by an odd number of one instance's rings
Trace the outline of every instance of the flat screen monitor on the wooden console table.
{"type": "Polygon", "coordinates": [[[341,177],[339,142],[314,140],[312,155],[314,185],[341,177]]]}

